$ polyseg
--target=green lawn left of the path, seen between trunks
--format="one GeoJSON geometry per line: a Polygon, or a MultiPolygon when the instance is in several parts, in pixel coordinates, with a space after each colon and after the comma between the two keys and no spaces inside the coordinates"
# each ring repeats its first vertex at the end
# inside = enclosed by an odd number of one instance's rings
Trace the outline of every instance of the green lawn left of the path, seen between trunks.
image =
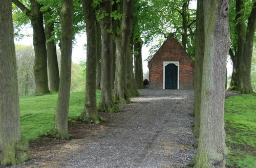
{"type": "MultiPolygon", "coordinates": [[[[83,110],[84,96],[84,92],[70,94],[69,120],[75,118],[83,110]]],[[[57,97],[57,94],[20,97],[20,125],[28,140],[37,138],[53,129],[57,97]]],[[[100,91],[97,91],[97,102],[99,100],[100,91]]]]}

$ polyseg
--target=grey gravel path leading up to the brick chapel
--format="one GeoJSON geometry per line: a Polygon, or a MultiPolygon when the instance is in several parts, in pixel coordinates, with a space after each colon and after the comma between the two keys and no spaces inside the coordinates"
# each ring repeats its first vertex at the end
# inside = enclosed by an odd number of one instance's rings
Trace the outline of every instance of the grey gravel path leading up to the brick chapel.
{"type": "Polygon", "coordinates": [[[70,123],[70,141],[32,141],[31,160],[13,167],[185,167],[196,153],[194,92],[139,92],[120,113],[100,113],[102,125],[70,123]]]}

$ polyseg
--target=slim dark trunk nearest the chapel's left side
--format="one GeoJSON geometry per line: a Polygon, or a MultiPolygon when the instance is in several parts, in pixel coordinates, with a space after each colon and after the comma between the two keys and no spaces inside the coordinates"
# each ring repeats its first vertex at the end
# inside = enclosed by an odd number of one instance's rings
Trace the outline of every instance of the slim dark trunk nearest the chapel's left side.
{"type": "Polygon", "coordinates": [[[136,89],[143,89],[142,40],[134,44],[134,76],[136,89]]]}

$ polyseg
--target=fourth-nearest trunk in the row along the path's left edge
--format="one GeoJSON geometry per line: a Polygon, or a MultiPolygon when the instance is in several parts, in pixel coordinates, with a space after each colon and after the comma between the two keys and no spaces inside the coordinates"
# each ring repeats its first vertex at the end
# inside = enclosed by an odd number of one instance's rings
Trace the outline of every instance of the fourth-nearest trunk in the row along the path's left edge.
{"type": "MultiPolygon", "coordinates": [[[[100,4],[100,11],[105,11],[110,14],[111,1],[103,1],[100,4]]],[[[112,98],[112,35],[108,30],[112,29],[112,20],[110,15],[101,19],[101,101],[98,107],[100,111],[117,112],[118,106],[114,103],[112,98]]]]}

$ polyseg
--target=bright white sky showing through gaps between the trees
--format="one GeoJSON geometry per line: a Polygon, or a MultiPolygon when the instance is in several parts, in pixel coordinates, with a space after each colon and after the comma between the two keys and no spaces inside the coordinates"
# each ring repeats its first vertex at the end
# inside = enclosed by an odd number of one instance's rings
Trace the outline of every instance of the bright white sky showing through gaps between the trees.
{"type": "MultiPolygon", "coordinates": [[[[197,1],[190,1],[189,8],[196,9],[196,6],[197,6],[197,1]]],[[[23,44],[23,45],[33,46],[33,38],[32,38],[33,30],[32,30],[32,28],[25,27],[25,29],[23,29],[22,33],[30,35],[30,36],[26,36],[19,41],[15,40],[15,44],[23,44]]],[[[72,61],[75,63],[79,63],[81,60],[86,60],[86,48],[84,47],[84,44],[87,43],[86,33],[81,33],[79,35],[76,35],[75,39],[76,39],[76,42],[73,44],[72,61]]],[[[147,57],[149,56],[148,51],[150,50],[150,48],[151,48],[150,46],[142,47],[143,73],[146,73],[148,71],[147,61],[144,61],[144,60],[147,59],[147,57]]],[[[232,73],[231,61],[229,61],[227,64],[227,71],[228,71],[228,75],[232,73]]]]}

